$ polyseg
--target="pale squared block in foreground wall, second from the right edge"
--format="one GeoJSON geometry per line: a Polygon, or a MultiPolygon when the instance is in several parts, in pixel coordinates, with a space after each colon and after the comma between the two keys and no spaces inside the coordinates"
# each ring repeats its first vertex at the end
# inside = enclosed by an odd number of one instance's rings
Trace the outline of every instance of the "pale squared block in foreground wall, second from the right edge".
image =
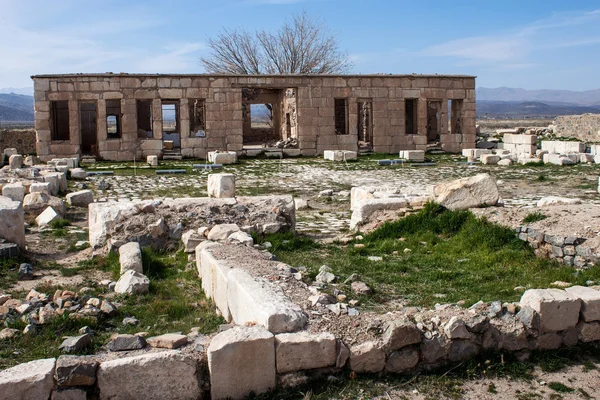
{"type": "Polygon", "coordinates": [[[541,332],[558,332],[575,327],[581,300],[560,289],[529,289],[521,297],[521,307],[539,315],[541,332]]]}

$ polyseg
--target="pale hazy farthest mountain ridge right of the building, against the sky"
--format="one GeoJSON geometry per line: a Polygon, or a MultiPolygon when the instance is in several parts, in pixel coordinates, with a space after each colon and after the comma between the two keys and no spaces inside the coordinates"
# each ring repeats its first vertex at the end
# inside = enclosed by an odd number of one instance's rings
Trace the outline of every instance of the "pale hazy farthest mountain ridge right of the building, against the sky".
{"type": "Polygon", "coordinates": [[[575,92],[571,90],[526,90],[508,87],[490,89],[479,87],[476,89],[476,94],[477,100],[486,101],[539,101],[545,104],[600,105],[600,89],[575,92]]]}

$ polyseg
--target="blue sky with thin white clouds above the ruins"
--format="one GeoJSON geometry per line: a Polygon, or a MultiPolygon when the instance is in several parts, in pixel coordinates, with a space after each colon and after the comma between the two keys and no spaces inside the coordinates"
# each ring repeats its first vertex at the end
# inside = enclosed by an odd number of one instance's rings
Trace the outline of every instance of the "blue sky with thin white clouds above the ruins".
{"type": "Polygon", "coordinates": [[[0,88],[42,73],[202,73],[198,58],[220,29],[276,28],[302,10],[337,36],[355,73],[600,88],[600,2],[591,0],[0,0],[0,88]]]}

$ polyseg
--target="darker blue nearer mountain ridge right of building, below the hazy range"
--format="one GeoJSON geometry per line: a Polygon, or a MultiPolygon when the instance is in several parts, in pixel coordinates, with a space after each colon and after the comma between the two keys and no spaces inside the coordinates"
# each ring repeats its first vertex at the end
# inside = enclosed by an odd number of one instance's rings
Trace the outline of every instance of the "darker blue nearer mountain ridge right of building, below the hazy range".
{"type": "Polygon", "coordinates": [[[557,115],[600,114],[599,107],[548,104],[537,101],[486,101],[477,99],[477,117],[556,117],[557,115]]]}

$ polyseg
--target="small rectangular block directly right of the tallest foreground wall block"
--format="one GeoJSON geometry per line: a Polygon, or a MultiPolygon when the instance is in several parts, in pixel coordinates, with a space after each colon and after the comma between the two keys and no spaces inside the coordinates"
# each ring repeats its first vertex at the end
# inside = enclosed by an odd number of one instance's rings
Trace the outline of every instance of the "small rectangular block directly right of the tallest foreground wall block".
{"type": "Polygon", "coordinates": [[[275,336],[277,373],[285,374],[335,364],[336,339],[331,333],[282,333],[275,336]]]}

